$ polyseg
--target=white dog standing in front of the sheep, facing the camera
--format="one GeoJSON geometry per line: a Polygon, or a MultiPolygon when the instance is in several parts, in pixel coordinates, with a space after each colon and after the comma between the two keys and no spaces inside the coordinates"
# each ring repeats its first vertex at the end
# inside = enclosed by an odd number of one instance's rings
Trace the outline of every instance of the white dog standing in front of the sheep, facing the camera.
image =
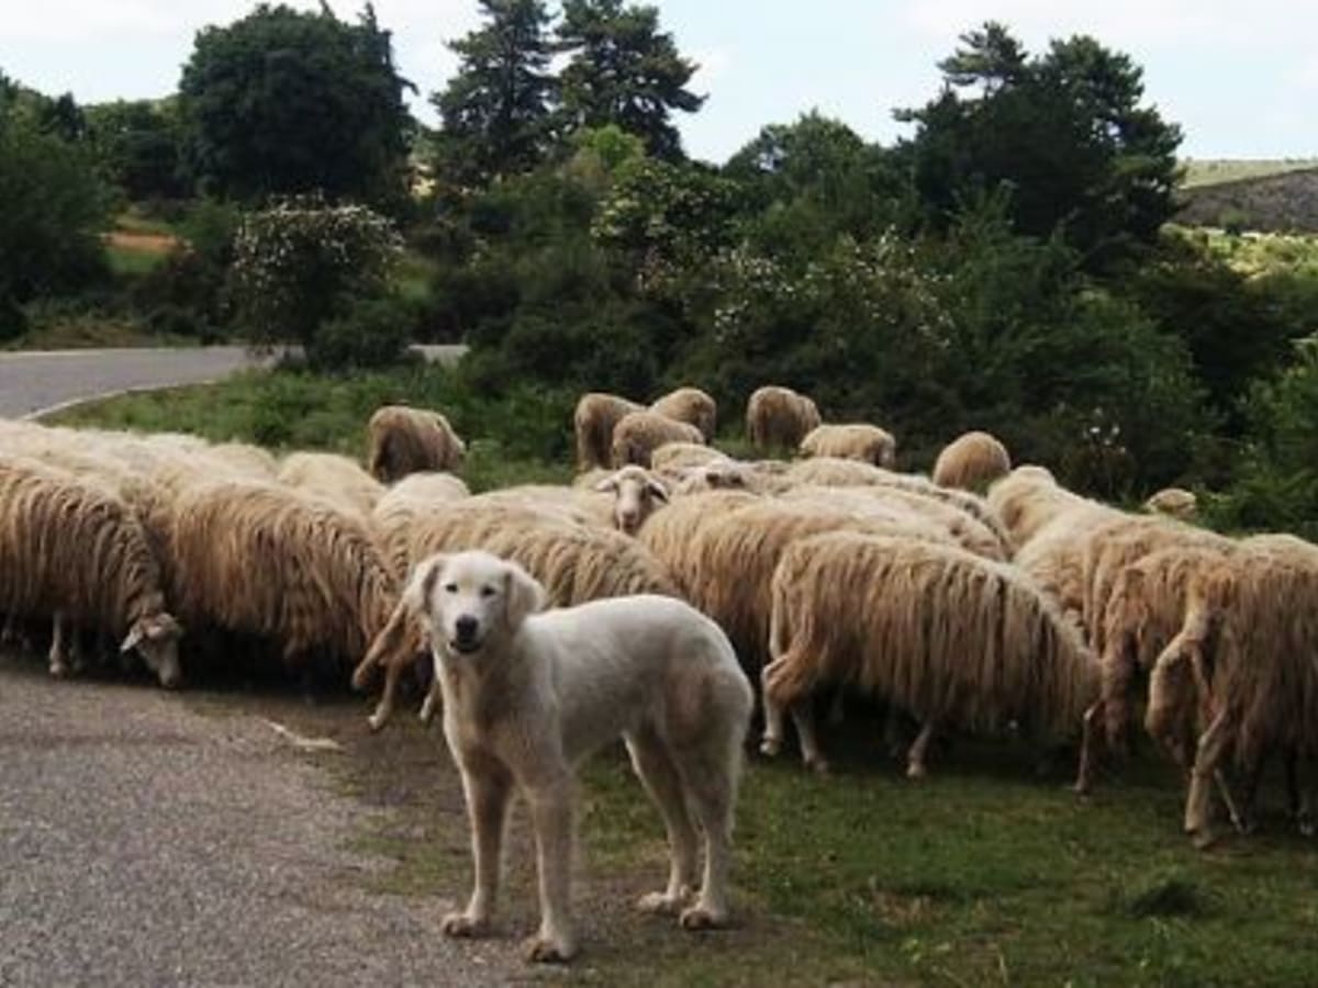
{"type": "Polygon", "coordinates": [[[443,690],[444,735],[463,773],[476,884],[451,937],[488,933],[509,797],[526,797],[535,827],[540,929],[531,960],[576,952],[568,914],[572,769],[622,735],[663,811],[672,867],[641,909],[704,929],[728,919],[728,868],[742,743],[753,697],[726,635],[668,597],[593,601],[538,614],[544,590],[486,552],[420,563],[405,606],[430,632],[443,690]],[[695,904],[697,833],[705,869],[695,904]]]}

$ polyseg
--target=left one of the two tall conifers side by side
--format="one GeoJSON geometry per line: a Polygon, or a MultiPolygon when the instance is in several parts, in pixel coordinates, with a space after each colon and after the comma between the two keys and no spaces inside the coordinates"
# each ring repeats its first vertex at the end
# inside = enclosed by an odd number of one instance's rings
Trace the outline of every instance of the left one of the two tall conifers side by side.
{"type": "Polygon", "coordinates": [[[460,186],[529,171],[551,145],[555,82],[542,0],[480,0],[486,24],[451,47],[457,74],[431,103],[443,117],[436,174],[460,186]]]}

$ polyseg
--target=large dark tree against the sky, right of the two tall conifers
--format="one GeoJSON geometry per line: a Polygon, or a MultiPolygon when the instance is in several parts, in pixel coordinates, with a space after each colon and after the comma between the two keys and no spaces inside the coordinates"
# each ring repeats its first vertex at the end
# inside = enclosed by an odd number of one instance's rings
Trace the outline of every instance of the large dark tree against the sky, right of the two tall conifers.
{"type": "Polygon", "coordinates": [[[942,94],[898,112],[917,125],[905,150],[934,224],[969,195],[1007,188],[1019,232],[1061,229],[1090,270],[1152,242],[1174,212],[1181,130],[1140,105],[1139,66],[1089,37],[1027,58],[994,22],[962,42],[940,63],[942,94]]]}

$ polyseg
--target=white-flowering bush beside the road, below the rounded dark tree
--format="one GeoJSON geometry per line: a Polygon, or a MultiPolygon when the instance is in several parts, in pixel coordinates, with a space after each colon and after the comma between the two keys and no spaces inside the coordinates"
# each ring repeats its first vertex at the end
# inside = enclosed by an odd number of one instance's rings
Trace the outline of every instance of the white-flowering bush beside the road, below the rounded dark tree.
{"type": "Polygon", "coordinates": [[[254,343],[310,346],[352,299],[384,294],[401,253],[394,225],[364,206],[290,199],[243,220],[233,299],[254,343]]]}

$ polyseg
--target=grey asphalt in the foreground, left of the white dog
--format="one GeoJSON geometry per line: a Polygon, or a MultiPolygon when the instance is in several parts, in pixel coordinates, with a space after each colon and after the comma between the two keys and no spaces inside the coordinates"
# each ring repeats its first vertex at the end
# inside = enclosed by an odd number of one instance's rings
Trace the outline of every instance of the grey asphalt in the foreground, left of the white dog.
{"type": "MultiPolygon", "coordinates": [[[[195,702],[195,701],[194,701],[195,702]]],[[[488,985],[443,897],[365,891],[370,810],[256,717],[0,657],[0,984],[488,985]]],[[[337,756],[341,757],[341,756],[337,756]]]]}

